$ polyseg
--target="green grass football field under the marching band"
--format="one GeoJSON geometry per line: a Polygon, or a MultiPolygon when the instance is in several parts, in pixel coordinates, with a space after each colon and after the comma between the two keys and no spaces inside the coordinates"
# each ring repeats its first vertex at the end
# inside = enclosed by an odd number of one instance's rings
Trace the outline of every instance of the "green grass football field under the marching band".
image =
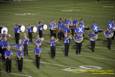
{"type": "MultiPolygon", "coordinates": [[[[7,24],[12,35],[15,23],[37,24],[41,20],[48,24],[50,20],[58,21],[60,17],[78,20],[83,18],[86,26],[97,22],[101,28],[105,28],[107,21],[115,17],[115,1],[33,0],[0,3],[0,24],[7,24]]],[[[112,50],[108,50],[103,33],[99,34],[94,53],[87,48],[89,41],[85,39],[79,56],[75,54],[73,40],[69,57],[63,55],[63,41],[57,42],[55,59],[49,56],[48,30],[44,32],[44,36],[40,69],[37,69],[34,63],[33,45],[29,45],[29,56],[24,58],[23,72],[17,70],[14,51],[12,73],[6,73],[4,64],[0,62],[0,77],[115,77],[115,40],[113,40],[112,50]],[[99,66],[102,69],[85,70],[80,68],[83,65],[99,66]]],[[[14,39],[9,41],[14,42],[14,39]]]]}

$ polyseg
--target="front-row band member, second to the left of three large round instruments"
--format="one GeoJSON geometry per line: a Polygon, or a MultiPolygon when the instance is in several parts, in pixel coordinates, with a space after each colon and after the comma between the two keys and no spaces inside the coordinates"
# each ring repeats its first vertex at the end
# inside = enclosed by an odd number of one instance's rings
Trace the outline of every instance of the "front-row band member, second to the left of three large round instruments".
{"type": "Polygon", "coordinates": [[[52,36],[50,39],[50,51],[51,51],[51,58],[55,58],[56,55],[56,41],[55,38],[52,36]]]}

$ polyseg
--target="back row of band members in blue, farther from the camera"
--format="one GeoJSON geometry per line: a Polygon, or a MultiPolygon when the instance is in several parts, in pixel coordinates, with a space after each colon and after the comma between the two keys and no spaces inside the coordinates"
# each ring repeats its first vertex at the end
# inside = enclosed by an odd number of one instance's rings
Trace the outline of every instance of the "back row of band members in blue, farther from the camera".
{"type": "MultiPolygon", "coordinates": [[[[36,27],[37,27],[37,32],[39,33],[39,37],[43,37],[43,23],[40,21],[36,27]]],[[[85,26],[84,20],[78,21],[77,19],[71,21],[69,19],[63,20],[62,18],[59,19],[58,23],[56,23],[54,20],[52,20],[49,23],[49,30],[50,30],[50,36],[54,36],[55,38],[58,38],[59,40],[64,39],[64,34],[65,33],[70,33],[72,36],[74,36],[75,33],[78,33],[79,31],[82,33],[85,33],[86,30],[92,30],[94,32],[102,32],[103,30],[99,27],[97,23],[93,23],[91,27],[85,26]]],[[[111,30],[114,32],[115,35],[115,22],[114,20],[111,20],[107,24],[107,29],[111,30]]],[[[28,32],[28,37],[30,39],[30,42],[32,42],[32,37],[33,37],[33,26],[29,26],[27,28],[28,32]]],[[[20,24],[16,24],[14,27],[14,33],[15,33],[15,38],[16,38],[16,44],[19,43],[20,39],[20,24]]],[[[113,36],[113,39],[115,37],[113,36]]]]}

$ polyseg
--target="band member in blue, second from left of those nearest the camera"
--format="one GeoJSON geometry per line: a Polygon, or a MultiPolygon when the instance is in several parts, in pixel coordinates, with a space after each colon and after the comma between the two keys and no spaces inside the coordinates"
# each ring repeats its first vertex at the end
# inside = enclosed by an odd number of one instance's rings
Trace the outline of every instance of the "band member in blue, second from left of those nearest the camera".
{"type": "Polygon", "coordinates": [[[16,56],[17,56],[18,71],[19,71],[19,72],[22,72],[22,69],[23,69],[24,52],[23,52],[21,46],[20,46],[19,49],[17,50],[16,56]]]}

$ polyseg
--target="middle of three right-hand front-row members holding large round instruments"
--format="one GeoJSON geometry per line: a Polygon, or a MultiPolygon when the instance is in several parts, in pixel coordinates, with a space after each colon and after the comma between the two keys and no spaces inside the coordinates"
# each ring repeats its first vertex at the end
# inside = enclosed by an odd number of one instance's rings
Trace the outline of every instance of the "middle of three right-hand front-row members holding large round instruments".
{"type": "Polygon", "coordinates": [[[93,31],[89,33],[89,40],[90,40],[90,46],[91,46],[90,48],[91,48],[92,52],[95,51],[95,42],[96,42],[97,38],[98,38],[97,33],[93,32],[93,31]]]}

